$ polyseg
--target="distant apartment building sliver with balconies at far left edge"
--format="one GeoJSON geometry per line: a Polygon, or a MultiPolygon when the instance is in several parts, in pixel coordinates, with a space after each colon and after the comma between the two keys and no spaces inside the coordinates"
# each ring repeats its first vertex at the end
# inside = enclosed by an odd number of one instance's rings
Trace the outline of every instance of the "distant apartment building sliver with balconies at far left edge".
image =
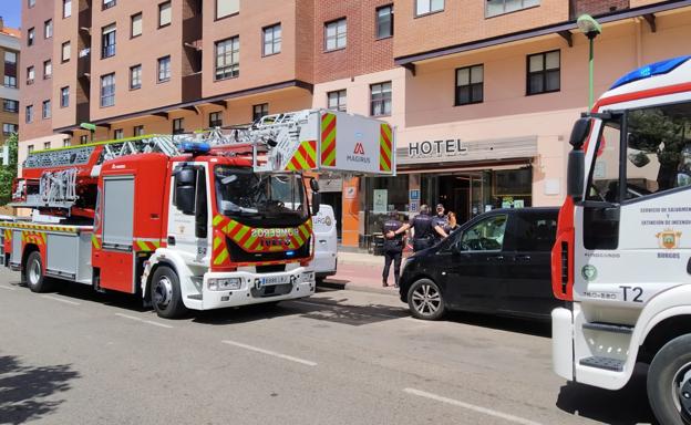
{"type": "Polygon", "coordinates": [[[0,85],[0,102],[2,102],[0,144],[4,144],[11,134],[19,131],[19,86],[17,85],[17,69],[20,56],[19,40],[19,30],[4,27],[2,17],[0,17],[0,75],[2,75],[2,85],[0,85]]]}

